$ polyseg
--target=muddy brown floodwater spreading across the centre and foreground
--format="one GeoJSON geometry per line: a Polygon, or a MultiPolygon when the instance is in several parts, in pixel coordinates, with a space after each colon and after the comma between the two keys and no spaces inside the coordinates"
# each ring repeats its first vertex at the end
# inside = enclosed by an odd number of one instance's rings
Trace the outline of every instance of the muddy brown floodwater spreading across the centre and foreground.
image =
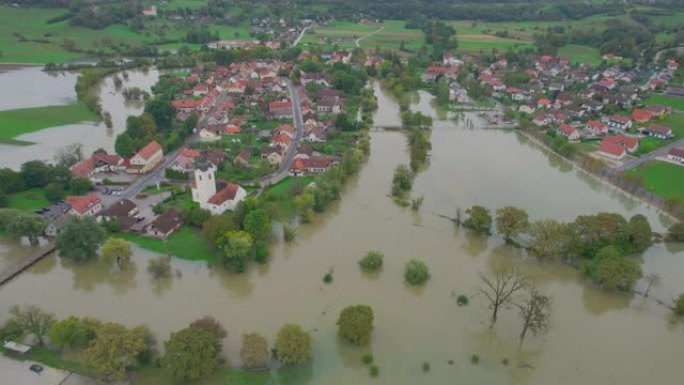
{"type": "MultiPolygon", "coordinates": [[[[382,124],[394,102],[377,88],[376,93],[380,110],[375,121],[382,124]]],[[[431,112],[427,95],[421,94],[414,108],[431,112]]],[[[342,201],[302,226],[296,242],[275,243],[269,264],[233,275],[174,260],[178,275],[155,283],[145,272],[152,254],[140,249],[133,257],[135,267],[124,273],[50,257],[0,289],[0,318],[6,318],[12,304],[37,304],[60,317],[144,323],[164,340],[211,314],[229,331],[225,354],[236,365],[241,333],[258,331],[272,343],[282,323],[296,322],[314,337],[310,384],[370,383],[360,361],[369,351],[380,367],[373,380],[378,384],[680,382],[684,325],[672,322],[666,309],[641,297],[598,292],[569,267],[527,261],[497,237],[457,230],[437,214],[453,215],[457,207],[477,203],[517,205],[533,219],[569,220],[599,210],[644,213],[656,229],[667,225],[666,218],[579,174],[514,132],[439,121],[432,143],[430,167],[414,186],[415,195],[425,196],[418,214],[388,197],[394,167],[408,162],[404,134],[374,131],[370,159],[348,183],[342,201]],[[361,273],[357,266],[369,249],[386,255],[377,275],[361,273]],[[413,257],[430,268],[432,277],[423,288],[403,282],[404,263],[413,257]],[[490,332],[488,309],[475,294],[478,273],[509,259],[519,260],[553,299],[548,334],[529,338],[522,350],[516,311],[506,309],[490,332]],[[326,285],[322,278],[331,269],[334,281],[326,285]],[[458,294],[472,296],[470,305],[456,306],[458,294]],[[353,348],[338,341],[335,322],[343,307],[359,303],[373,307],[376,329],[368,347],[353,348]],[[479,365],[471,365],[472,354],[480,356],[479,365]],[[501,363],[505,358],[507,366],[501,363]],[[431,364],[427,373],[421,369],[424,361],[431,364]]],[[[671,300],[684,291],[678,273],[684,269],[681,248],[659,244],[644,259],[647,273],[663,276],[652,297],[671,300]]]]}

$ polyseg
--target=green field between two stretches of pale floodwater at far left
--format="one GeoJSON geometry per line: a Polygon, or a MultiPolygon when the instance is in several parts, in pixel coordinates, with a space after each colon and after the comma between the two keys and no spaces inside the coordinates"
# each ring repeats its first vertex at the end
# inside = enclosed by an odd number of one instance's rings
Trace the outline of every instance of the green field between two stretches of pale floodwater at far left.
{"type": "Polygon", "coordinates": [[[21,134],[97,120],[97,116],[83,103],[0,111],[0,141],[11,143],[21,134]]]}

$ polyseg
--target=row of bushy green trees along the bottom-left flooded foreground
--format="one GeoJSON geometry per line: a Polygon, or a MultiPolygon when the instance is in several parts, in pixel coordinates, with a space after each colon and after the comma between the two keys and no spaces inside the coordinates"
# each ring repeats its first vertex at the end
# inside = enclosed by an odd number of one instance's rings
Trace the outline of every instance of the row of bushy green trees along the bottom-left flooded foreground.
{"type": "MultiPolygon", "coordinates": [[[[359,323],[355,314],[355,310],[343,311],[338,322],[340,334],[354,343],[361,343],[368,340],[363,333],[367,326],[359,323]]],[[[75,316],[58,321],[54,314],[37,306],[14,306],[10,316],[0,328],[3,340],[20,341],[33,337],[40,345],[49,342],[61,350],[81,351],[86,368],[102,381],[122,381],[130,370],[152,363],[156,355],[154,335],[146,326],[127,328],[113,322],[75,316]]],[[[227,336],[223,325],[214,317],[199,318],[171,334],[164,342],[164,354],[158,357],[157,364],[180,381],[206,377],[219,366],[222,340],[227,336]]],[[[278,331],[273,356],[283,365],[297,365],[310,359],[311,349],[312,339],[308,332],[299,325],[285,324],[278,331]]],[[[248,369],[268,368],[271,351],[266,338],[256,332],[243,334],[240,358],[248,369]]]]}

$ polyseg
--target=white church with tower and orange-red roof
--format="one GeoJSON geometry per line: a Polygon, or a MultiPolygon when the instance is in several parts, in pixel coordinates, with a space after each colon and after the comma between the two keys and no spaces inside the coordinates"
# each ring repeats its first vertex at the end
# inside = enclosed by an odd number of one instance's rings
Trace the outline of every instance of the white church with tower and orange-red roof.
{"type": "Polygon", "coordinates": [[[195,170],[192,182],[192,200],[212,215],[220,215],[235,207],[247,197],[247,191],[235,183],[216,181],[213,167],[195,170]]]}

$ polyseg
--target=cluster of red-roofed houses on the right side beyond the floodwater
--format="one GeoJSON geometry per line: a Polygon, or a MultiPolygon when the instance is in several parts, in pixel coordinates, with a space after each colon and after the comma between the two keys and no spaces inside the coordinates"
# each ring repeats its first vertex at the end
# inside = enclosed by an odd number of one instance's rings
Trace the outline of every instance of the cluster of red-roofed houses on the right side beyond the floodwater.
{"type": "MultiPolygon", "coordinates": [[[[451,79],[460,63],[446,53],[440,66],[428,68],[423,80],[431,82],[439,76],[451,79]]],[[[616,64],[591,71],[585,65],[571,65],[569,58],[543,55],[529,68],[519,68],[502,58],[481,65],[477,75],[480,84],[491,89],[493,97],[528,114],[533,124],[555,129],[570,141],[600,139],[596,154],[619,160],[637,151],[642,137],[674,137],[672,127],[658,122],[660,117],[672,113],[670,107],[635,107],[643,92],[667,85],[677,68],[678,64],[670,60],[644,82],[648,73],[639,68],[624,70],[616,64]],[[517,87],[506,84],[504,79],[513,73],[524,73],[529,82],[516,84],[517,87]],[[578,85],[585,87],[577,91],[578,85]]]]}

